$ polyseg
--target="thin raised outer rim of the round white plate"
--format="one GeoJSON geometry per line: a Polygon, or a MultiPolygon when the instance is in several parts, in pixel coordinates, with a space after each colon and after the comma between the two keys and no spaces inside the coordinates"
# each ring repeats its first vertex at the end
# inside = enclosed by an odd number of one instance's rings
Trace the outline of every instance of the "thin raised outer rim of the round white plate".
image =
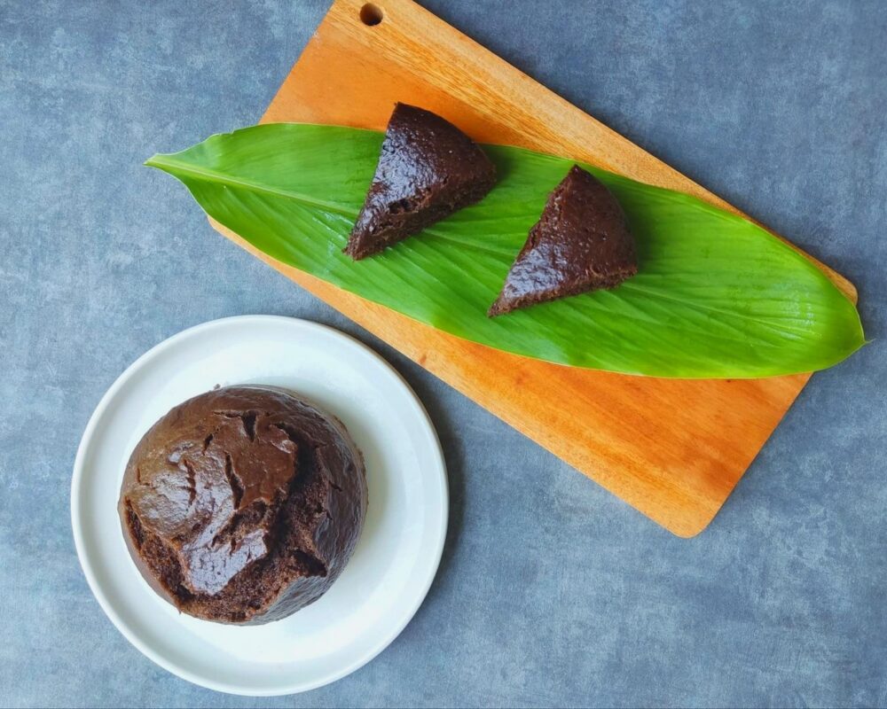
{"type": "Polygon", "coordinates": [[[332,682],[337,682],[338,680],[341,680],[342,677],[356,672],[362,666],[365,666],[367,663],[373,660],[373,658],[376,658],[381,653],[381,651],[384,651],[391,643],[396,640],[397,636],[404,631],[404,628],[410,623],[415,614],[419,611],[421,605],[425,602],[425,599],[428,596],[428,591],[430,590],[432,583],[434,583],[434,580],[437,577],[437,572],[440,569],[440,562],[443,557],[443,549],[446,544],[447,529],[450,519],[449,482],[446,472],[446,460],[443,456],[443,448],[441,447],[440,439],[437,435],[435,425],[432,422],[431,417],[428,416],[428,410],[425,408],[425,405],[422,403],[419,395],[415,393],[415,391],[413,391],[412,386],[410,386],[406,379],[404,379],[403,375],[372,347],[369,347],[365,343],[361,342],[359,339],[352,337],[346,332],[342,332],[334,327],[323,323],[315,323],[313,321],[304,320],[299,317],[273,315],[229,316],[192,325],[191,327],[185,328],[184,330],[170,335],[169,338],[161,340],[156,345],[149,348],[145,353],[137,357],[134,362],[130,363],[130,365],[125,370],[123,370],[116,379],[114,379],[114,383],[108,387],[104,395],[98,401],[98,404],[93,410],[86,427],[83,429],[80,443],[77,446],[73,475],[71,478],[70,506],[71,527],[74,534],[77,560],[80,563],[82,573],[86,577],[87,584],[90,587],[92,595],[98,601],[98,605],[100,606],[102,611],[105,612],[107,618],[111,620],[112,624],[121,633],[121,635],[123,635],[123,637],[126,638],[126,640],[129,641],[130,644],[137,649],[137,651],[141,652],[146,658],[153,661],[153,663],[155,663],[156,665],[161,666],[170,674],[174,674],[177,677],[184,679],[186,682],[192,682],[192,684],[196,684],[208,690],[215,690],[219,692],[224,692],[226,694],[239,695],[241,697],[283,697],[287,695],[299,694],[304,691],[315,690],[319,687],[325,686],[326,684],[331,684],[332,682]],[[436,478],[438,479],[440,485],[440,500],[442,508],[441,525],[437,530],[438,534],[436,538],[436,547],[435,549],[433,549],[432,555],[434,564],[430,566],[432,571],[428,573],[428,579],[426,579],[422,583],[421,592],[416,594],[412,606],[408,609],[408,612],[404,613],[402,618],[393,626],[393,629],[389,631],[389,633],[382,635],[381,639],[374,643],[369,651],[366,651],[362,655],[358,656],[355,661],[339,668],[333,673],[322,676],[321,678],[319,678],[319,680],[312,680],[309,682],[292,682],[290,684],[287,684],[286,686],[280,685],[274,688],[269,688],[267,690],[260,690],[256,688],[246,689],[242,685],[236,683],[220,682],[209,679],[200,674],[192,672],[190,669],[184,666],[178,665],[176,662],[170,661],[160,652],[155,651],[153,647],[151,647],[149,644],[143,643],[137,633],[132,632],[126,621],[124,621],[117,614],[117,612],[114,611],[114,608],[105,596],[101,585],[98,583],[98,580],[93,573],[91,565],[87,563],[88,552],[86,550],[86,543],[83,540],[82,519],[80,511],[78,509],[78,501],[80,500],[82,494],[84,458],[86,456],[87,448],[89,448],[90,442],[95,436],[98,420],[104,415],[108,406],[112,403],[112,401],[114,401],[115,397],[118,395],[123,386],[125,386],[129,382],[130,378],[134,377],[137,372],[144,368],[148,362],[160,356],[166,350],[172,347],[176,347],[181,340],[188,339],[195,334],[199,334],[201,331],[232,326],[237,327],[241,324],[249,323],[277,323],[282,326],[295,326],[297,328],[302,328],[303,330],[308,331],[321,331],[326,335],[331,335],[334,338],[343,340],[351,347],[356,347],[358,350],[362,351],[363,354],[369,355],[370,358],[375,360],[375,362],[381,364],[383,369],[387,370],[396,379],[396,381],[404,387],[405,392],[409,395],[409,399],[415,405],[415,408],[420,414],[420,421],[425,424],[424,426],[422,426],[422,428],[428,436],[428,442],[431,444],[431,449],[436,453],[434,469],[437,473],[436,478]]]}

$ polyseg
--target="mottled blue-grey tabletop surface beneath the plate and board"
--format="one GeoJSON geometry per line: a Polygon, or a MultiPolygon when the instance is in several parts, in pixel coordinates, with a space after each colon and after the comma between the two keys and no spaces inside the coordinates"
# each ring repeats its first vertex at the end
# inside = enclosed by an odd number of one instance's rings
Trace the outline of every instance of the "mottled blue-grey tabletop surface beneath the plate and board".
{"type": "Polygon", "coordinates": [[[850,277],[874,343],[812,379],[710,528],[680,540],[140,167],[255,122],[325,0],[0,0],[0,705],[887,705],[887,4],[426,2],[850,277]],[[428,406],[452,489],[441,571],[403,635],[273,700],[130,647],[68,521],[106,387],[161,339],[245,313],[379,349],[428,406]]]}

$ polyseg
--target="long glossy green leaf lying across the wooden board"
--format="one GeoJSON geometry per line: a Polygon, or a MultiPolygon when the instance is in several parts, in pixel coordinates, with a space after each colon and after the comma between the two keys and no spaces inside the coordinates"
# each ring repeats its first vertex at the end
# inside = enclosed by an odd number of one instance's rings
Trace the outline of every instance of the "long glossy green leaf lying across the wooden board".
{"type": "Polygon", "coordinates": [[[546,197],[573,160],[486,146],[496,188],[372,258],[341,253],[381,133],[279,123],[211,136],[147,165],[175,175],[216,221],[275,259],[461,338],[576,367],[680,378],[824,369],[863,342],[850,300],[810,261],[700,199],[583,165],[624,207],[640,273],[488,318],[546,197]]]}

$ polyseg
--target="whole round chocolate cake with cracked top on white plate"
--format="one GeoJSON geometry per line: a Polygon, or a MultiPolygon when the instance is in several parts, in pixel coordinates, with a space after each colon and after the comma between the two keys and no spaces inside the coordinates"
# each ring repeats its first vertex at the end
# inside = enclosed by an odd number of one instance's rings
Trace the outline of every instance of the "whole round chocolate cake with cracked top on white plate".
{"type": "Polygon", "coordinates": [[[315,406],[229,386],[145,433],[119,511],[139,571],[180,611],[267,623],[316,601],[348,562],[366,511],[363,459],[315,406]]]}

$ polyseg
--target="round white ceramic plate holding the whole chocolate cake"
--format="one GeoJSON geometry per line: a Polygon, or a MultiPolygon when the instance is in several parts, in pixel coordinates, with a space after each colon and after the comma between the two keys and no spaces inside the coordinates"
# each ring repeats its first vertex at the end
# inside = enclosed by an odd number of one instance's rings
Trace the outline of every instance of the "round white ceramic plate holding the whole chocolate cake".
{"type": "Polygon", "coordinates": [[[114,625],[169,672],[256,696],[334,682],[384,650],[434,579],[447,510],[436,433],[396,371],[341,332],[272,316],[204,323],[140,357],[90,418],[71,486],[77,554],[114,625]],[[137,572],[117,518],[123,469],[138,440],[177,403],[217,384],[303,393],[344,422],[366,461],[369,506],[349,565],[317,603],[264,626],[177,612],[137,572]]]}

